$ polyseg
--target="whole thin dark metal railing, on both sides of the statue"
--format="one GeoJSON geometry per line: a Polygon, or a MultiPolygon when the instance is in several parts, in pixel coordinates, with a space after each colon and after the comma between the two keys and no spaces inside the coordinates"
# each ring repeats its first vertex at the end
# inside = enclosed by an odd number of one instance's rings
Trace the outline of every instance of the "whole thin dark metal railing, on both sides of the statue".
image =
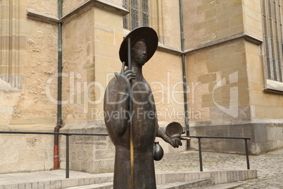
{"type": "MultiPolygon", "coordinates": [[[[69,137],[70,135],[88,135],[88,136],[108,136],[108,134],[92,134],[92,133],[46,133],[46,132],[20,132],[20,131],[0,131],[0,134],[25,134],[25,135],[65,135],[66,137],[66,168],[65,168],[65,178],[69,178],[70,174],[70,157],[69,157],[69,137]]],[[[246,150],[246,166],[250,169],[249,164],[249,150],[247,140],[251,138],[233,138],[233,137],[202,137],[202,136],[186,136],[188,138],[197,138],[199,141],[199,166],[200,171],[203,171],[203,160],[201,154],[201,138],[215,138],[215,139],[241,139],[245,140],[245,150],[246,150]]]]}

